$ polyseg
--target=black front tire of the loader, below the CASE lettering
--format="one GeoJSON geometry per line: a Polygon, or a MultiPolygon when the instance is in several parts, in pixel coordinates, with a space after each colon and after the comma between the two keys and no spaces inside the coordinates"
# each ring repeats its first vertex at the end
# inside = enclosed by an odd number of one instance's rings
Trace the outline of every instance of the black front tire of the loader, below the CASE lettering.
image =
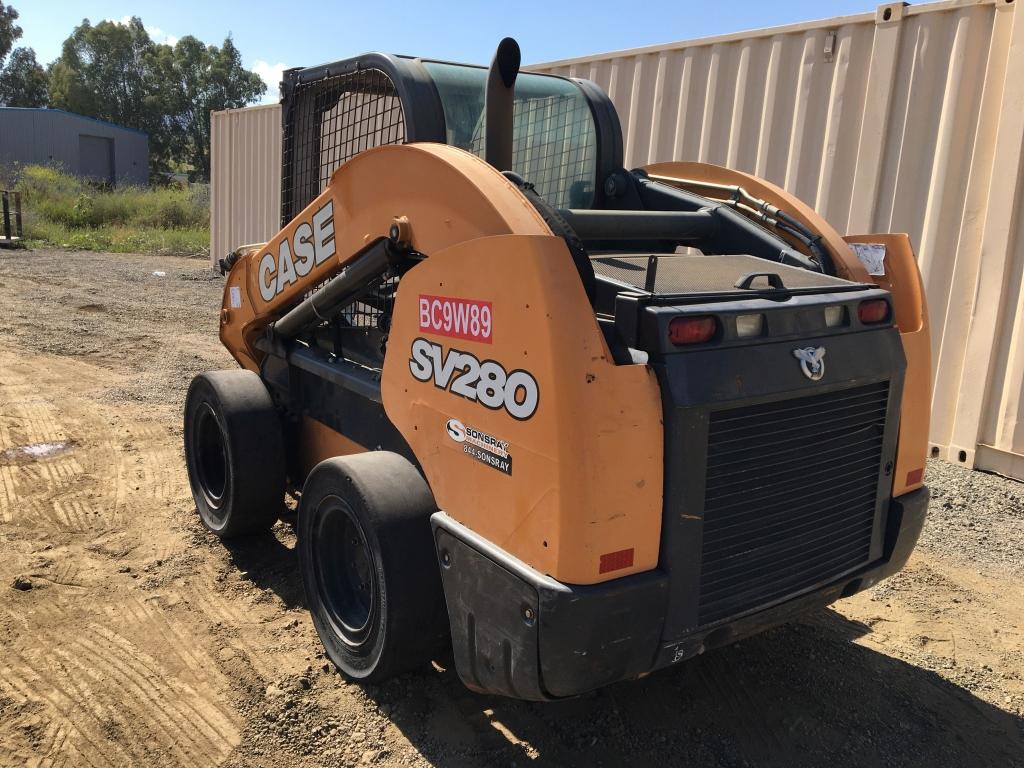
{"type": "Polygon", "coordinates": [[[251,371],[211,371],[185,397],[185,464],[203,524],[221,539],[268,530],[285,500],[281,419],[251,371]]]}

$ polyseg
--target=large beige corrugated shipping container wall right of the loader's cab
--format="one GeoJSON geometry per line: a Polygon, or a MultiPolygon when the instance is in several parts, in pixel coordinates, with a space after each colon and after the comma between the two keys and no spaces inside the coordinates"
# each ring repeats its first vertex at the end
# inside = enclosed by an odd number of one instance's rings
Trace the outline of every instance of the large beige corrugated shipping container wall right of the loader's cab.
{"type": "MultiPolygon", "coordinates": [[[[889,3],[529,69],[608,91],[629,167],[718,163],[781,184],[840,231],[908,232],[932,317],[933,452],[1024,478],[1024,16],[1015,8],[889,3]]],[[[278,186],[248,194],[276,201],[278,186]]]]}

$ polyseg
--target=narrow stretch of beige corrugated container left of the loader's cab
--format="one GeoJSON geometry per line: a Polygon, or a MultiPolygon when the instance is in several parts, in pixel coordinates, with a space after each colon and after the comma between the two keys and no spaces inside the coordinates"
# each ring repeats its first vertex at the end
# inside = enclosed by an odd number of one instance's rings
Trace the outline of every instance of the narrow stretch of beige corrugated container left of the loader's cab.
{"type": "Polygon", "coordinates": [[[210,256],[265,243],[281,228],[281,106],[210,115],[210,256]]]}

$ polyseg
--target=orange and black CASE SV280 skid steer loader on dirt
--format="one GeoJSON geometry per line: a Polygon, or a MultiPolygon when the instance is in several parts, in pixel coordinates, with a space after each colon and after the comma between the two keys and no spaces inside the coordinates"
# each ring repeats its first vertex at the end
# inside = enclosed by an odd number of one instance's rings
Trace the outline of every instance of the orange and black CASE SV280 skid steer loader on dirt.
{"type": "Polygon", "coordinates": [[[520,74],[511,39],[489,69],[293,70],[282,105],[283,228],[220,262],[241,369],[193,381],[185,457],[218,536],[299,499],[347,678],[451,644],[474,690],[571,696],[906,562],[930,360],[905,236],[718,166],[626,170],[607,95],[520,74]]]}

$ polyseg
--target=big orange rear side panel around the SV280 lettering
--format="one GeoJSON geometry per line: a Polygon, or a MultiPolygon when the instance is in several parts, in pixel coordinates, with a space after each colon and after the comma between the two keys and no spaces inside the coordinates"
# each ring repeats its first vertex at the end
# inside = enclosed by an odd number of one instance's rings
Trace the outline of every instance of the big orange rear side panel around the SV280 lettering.
{"type": "Polygon", "coordinates": [[[656,565],[664,471],[657,382],[647,366],[610,359],[560,238],[463,243],[409,271],[395,304],[382,393],[438,505],[459,522],[568,584],[656,565]],[[489,302],[490,338],[421,330],[422,296],[489,302]],[[445,355],[458,350],[506,372],[527,372],[538,385],[536,411],[516,419],[437,386],[435,378],[418,380],[411,373],[417,339],[445,355]],[[450,436],[450,419],[507,442],[512,474],[468,455],[474,446],[450,436]],[[602,572],[602,556],[612,569],[602,572]]]}

